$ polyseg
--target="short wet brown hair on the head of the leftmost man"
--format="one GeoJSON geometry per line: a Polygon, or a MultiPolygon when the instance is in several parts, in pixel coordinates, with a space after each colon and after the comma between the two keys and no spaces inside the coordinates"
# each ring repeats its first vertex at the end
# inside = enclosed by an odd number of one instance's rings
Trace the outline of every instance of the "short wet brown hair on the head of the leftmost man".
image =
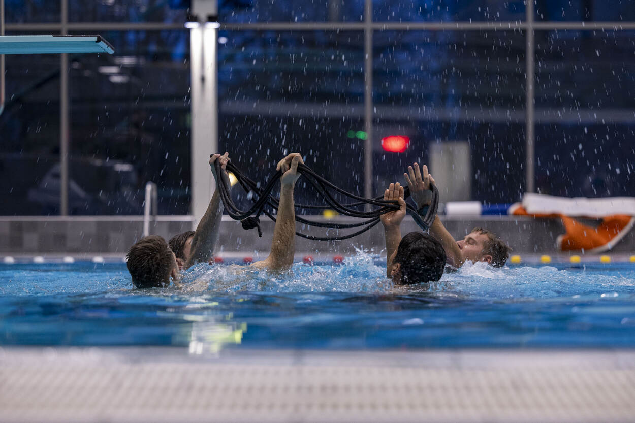
{"type": "Polygon", "coordinates": [[[128,272],[137,288],[161,287],[170,281],[174,258],[163,237],[150,235],[137,241],[126,255],[128,272]]]}

